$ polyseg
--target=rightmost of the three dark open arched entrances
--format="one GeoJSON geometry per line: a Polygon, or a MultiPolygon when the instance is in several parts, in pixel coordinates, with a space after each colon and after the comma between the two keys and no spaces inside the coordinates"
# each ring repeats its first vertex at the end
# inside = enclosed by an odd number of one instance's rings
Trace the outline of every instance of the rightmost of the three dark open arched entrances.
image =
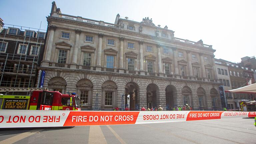
{"type": "Polygon", "coordinates": [[[172,108],[174,107],[174,93],[176,93],[176,88],[173,85],[168,85],[165,88],[166,110],[172,110],[172,108]]]}

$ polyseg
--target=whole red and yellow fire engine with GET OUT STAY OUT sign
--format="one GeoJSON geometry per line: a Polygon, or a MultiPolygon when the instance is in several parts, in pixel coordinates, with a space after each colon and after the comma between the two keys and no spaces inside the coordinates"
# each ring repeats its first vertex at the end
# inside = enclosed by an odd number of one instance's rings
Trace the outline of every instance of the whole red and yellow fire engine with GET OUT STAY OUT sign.
{"type": "Polygon", "coordinates": [[[3,90],[0,92],[30,92],[30,96],[0,95],[1,109],[28,110],[81,110],[80,98],[75,94],[61,94],[58,91],[47,90],[3,90]]]}

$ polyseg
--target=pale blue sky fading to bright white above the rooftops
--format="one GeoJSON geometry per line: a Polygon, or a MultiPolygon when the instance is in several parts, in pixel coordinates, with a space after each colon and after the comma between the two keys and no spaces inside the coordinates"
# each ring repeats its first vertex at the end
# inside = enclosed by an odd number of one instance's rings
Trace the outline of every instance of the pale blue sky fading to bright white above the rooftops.
{"type": "MultiPolygon", "coordinates": [[[[240,62],[256,55],[255,0],[56,0],[63,14],[114,23],[116,15],[141,22],[152,18],[177,38],[203,40],[215,58],[240,62]]],[[[47,28],[51,0],[0,0],[5,24],[47,28]]]]}

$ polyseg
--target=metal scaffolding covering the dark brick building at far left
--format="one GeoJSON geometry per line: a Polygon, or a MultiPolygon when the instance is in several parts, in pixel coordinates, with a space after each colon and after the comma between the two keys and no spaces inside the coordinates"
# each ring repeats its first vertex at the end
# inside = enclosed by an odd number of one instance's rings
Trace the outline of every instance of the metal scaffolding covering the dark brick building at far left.
{"type": "MultiPolygon", "coordinates": [[[[41,30],[41,24],[39,29],[4,24],[0,31],[0,88],[36,86],[37,66],[39,66],[41,58],[40,49],[44,48],[42,39],[44,39],[45,33],[46,30],[41,30]],[[16,29],[16,34],[10,34],[10,29],[16,29]],[[40,37],[39,34],[44,34],[44,37],[40,37]],[[26,45],[25,53],[20,53],[20,45],[26,45]],[[32,45],[35,46],[33,49],[32,45]]],[[[28,92],[12,91],[9,94],[27,95],[28,92]]]]}

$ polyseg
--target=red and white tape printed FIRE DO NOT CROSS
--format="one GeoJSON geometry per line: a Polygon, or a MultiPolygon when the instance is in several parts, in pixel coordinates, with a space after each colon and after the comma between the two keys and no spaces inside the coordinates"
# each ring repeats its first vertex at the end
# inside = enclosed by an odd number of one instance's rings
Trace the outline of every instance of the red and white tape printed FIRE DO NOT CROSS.
{"type": "Polygon", "coordinates": [[[256,117],[256,112],[0,110],[0,128],[146,124],[237,117],[256,117]]]}

